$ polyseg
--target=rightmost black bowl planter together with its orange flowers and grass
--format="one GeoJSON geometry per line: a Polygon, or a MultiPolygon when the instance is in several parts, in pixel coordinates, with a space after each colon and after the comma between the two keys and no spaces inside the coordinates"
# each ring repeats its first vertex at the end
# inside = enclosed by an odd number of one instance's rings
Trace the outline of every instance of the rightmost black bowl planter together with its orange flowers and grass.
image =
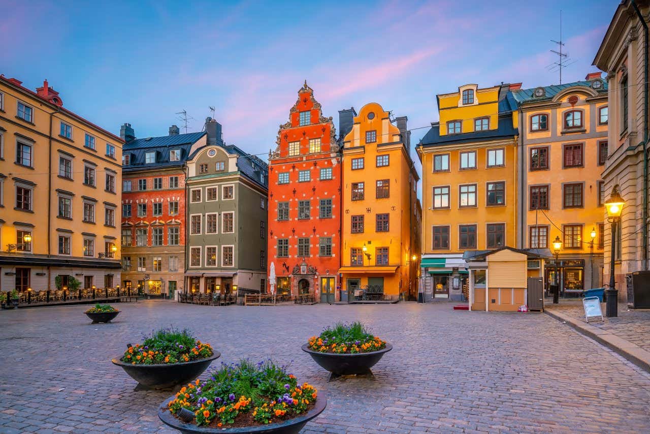
{"type": "Polygon", "coordinates": [[[302,351],[309,353],[322,368],[330,372],[332,381],[341,375],[367,375],[370,368],[393,346],[368,332],[363,324],[336,323],[324,329],[320,336],[312,336],[302,351]]]}

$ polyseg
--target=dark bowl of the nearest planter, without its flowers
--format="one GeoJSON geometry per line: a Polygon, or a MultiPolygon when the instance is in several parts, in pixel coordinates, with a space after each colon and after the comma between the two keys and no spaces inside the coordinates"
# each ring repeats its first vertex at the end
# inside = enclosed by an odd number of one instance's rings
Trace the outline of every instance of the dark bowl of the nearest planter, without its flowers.
{"type": "Polygon", "coordinates": [[[176,418],[174,414],[170,413],[168,408],[169,401],[175,399],[175,395],[170,396],[166,400],[162,401],[161,406],[158,409],[158,417],[164,424],[170,426],[181,433],[255,433],[255,434],[298,434],[300,430],[313,418],[322,413],[322,411],[327,406],[327,398],[324,392],[318,392],[318,399],[314,407],[307,413],[300,414],[292,419],[283,420],[282,422],[276,422],[266,425],[254,425],[254,426],[243,426],[243,427],[209,427],[209,426],[196,426],[193,422],[183,422],[179,418],[176,418]]]}

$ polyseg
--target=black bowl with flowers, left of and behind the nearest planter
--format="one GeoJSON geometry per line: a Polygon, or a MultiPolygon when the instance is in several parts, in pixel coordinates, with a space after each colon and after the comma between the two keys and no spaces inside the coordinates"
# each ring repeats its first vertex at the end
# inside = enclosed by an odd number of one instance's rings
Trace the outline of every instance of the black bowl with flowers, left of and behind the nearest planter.
{"type": "Polygon", "coordinates": [[[127,345],[112,362],[139,383],[137,389],[164,389],[192,381],[220,355],[187,329],[170,328],[152,332],[142,344],[127,345]]]}

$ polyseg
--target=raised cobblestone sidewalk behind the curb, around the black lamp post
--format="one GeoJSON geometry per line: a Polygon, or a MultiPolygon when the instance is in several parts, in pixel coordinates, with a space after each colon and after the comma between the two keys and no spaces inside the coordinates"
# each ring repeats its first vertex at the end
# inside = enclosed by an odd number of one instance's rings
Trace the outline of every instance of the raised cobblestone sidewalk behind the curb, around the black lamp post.
{"type": "MultiPolygon", "coordinates": [[[[545,304],[545,308],[555,310],[562,314],[572,316],[573,318],[584,321],[584,308],[582,300],[560,301],[558,305],[545,304]]],[[[605,305],[601,303],[603,316],[605,314],[605,305]]],[[[618,316],[607,318],[604,321],[600,318],[590,318],[589,324],[598,327],[601,330],[616,334],[632,344],[636,344],[646,351],[650,351],[650,309],[629,309],[627,303],[619,303],[618,316]]]]}

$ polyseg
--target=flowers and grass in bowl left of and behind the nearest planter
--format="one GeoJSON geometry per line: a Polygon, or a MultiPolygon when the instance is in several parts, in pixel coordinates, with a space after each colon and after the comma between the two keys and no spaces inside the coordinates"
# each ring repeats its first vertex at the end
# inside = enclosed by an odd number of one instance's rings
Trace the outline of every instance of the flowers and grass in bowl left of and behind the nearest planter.
{"type": "Polygon", "coordinates": [[[174,364],[206,359],[213,353],[210,344],[195,340],[187,329],[161,329],[142,344],[130,346],[120,360],[131,364],[174,364]]]}

